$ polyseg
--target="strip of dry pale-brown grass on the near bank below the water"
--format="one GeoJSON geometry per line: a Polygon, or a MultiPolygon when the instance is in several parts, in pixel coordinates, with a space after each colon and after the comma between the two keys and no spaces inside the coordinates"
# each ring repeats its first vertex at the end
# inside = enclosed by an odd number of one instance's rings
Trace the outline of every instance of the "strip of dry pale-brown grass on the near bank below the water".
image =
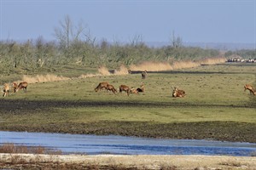
{"type": "Polygon", "coordinates": [[[255,157],[236,156],[49,156],[0,154],[0,167],[40,169],[256,169],[255,157]]]}

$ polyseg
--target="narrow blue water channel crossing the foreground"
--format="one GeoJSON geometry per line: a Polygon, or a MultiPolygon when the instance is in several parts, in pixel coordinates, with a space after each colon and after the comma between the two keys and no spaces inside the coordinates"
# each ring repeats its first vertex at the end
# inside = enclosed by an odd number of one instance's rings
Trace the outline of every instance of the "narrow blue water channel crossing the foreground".
{"type": "Polygon", "coordinates": [[[0,131],[0,144],[44,146],[62,153],[127,155],[225,155],[255,156],[255,143],[190,139],[147,139],[63,133],[0,131]]]}

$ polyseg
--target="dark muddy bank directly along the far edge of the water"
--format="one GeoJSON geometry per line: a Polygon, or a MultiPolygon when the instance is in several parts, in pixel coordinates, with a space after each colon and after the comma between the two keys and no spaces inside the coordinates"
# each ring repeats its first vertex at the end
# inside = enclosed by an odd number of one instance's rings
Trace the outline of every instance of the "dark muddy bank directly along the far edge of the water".
{"type": "Polygon", "coordinates": [[[241,122],[189,122],[154,125],[148,122],[55,123],[42,126],[0,125],[0,130],[35,133],[113,134],[157,139],[212,139],[256,143],[255,124],[241,122]]]}

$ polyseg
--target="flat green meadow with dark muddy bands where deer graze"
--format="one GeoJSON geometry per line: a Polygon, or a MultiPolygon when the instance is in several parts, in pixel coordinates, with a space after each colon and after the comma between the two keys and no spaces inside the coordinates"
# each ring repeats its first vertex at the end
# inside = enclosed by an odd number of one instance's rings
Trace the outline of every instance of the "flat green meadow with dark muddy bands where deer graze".
{"type": "MultiPolygon", "coordinates": [[[[79,77],[92,72],[60,71],[65,78],[29,82],[26,94],[2,98],[0,130],[256,142],[256,96],[243,88],[256,85],[255,64],[148,71],[144,80],[139,72],[79,77]],[[117,90],[121,84],[139,88],[143,83],[145,93],[96,93],[105,81],[117,90]],[[173,98],[173,87],[186,96],[173,98]]],[[[3,78],[13,81],[9,77],[3,78]]]]}

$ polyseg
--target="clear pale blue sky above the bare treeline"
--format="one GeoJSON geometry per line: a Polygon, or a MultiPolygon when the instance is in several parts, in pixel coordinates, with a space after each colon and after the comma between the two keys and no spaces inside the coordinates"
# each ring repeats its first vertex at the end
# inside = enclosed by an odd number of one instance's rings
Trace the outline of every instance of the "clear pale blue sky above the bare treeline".
{"type": "Polygon", "coordinates": [[[256,43],[256,0],[0,0],[0,40],[55,39],[69,16],[96,41],[256,43]],[[90,32],[90,33],[89,33],[90,32]]]}

